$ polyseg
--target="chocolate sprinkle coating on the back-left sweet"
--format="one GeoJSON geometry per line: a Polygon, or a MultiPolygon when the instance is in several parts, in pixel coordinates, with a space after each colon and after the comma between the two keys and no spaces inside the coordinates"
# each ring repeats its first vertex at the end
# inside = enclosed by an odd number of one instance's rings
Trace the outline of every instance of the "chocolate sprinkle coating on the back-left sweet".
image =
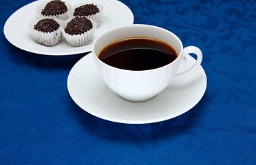
{"type": "Polygon", "coordinates": [[[44,16],[54,16],[67,12],[67,5],[63,1],[54,0],[45,5],[45,8],[41,11],[44,16]]]}

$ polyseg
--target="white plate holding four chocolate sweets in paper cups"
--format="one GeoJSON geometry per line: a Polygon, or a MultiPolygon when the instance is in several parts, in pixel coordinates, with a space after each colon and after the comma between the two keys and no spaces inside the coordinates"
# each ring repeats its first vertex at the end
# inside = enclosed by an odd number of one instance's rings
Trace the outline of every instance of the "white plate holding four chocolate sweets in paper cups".
{"type": "MultiPolygon", "coordinates": [[[[43,1],[43,0],[42,0],[43,1]]],[[[12,45],[19,47],[21,50],[36,54],[45,55],[71,55],[80,54],[84,52],[92,51],[92,43],[83,47],[72,47],[66,43],[65,40],[61,41],[57,45],[52,47],[45,47],[35,43],[29,34],[29,23],[36,19],[36,6],[42,3],[42,1],[34,1],[28,5],[23,6],[14,14],[12,14],[4,25],[4,34],[6,39],[12,43],[12,45]]],[[[96,29],[94,39],[109,30],[120,25],[131,25],[134,23],[134,15],[131,10],[124,3],[116,0],[66,0],[71,5],[80,4],[86,1],[95,2],[103,5],[103,22],[96,29]]],[[[92,42],[94,41],[92,40],[92,42]]]]}

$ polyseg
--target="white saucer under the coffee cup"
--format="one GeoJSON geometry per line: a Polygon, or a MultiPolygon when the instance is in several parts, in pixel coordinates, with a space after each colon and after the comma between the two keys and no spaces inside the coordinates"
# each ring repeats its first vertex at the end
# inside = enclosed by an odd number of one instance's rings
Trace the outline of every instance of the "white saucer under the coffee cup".
{"type": "MultiPolygon", "coordinates": [[[[195,63],[191,56],[179,72],[195,63]]],[[[145,124],[175,118],[197,104],[206,90],[206,74],[198,70],[170,83],[158,96],[145,102],[130,102],[114,94],[98,76],[92,53],[72,67],[67,78],[70,96],[81,109],[112,122],[145,124]]]]}

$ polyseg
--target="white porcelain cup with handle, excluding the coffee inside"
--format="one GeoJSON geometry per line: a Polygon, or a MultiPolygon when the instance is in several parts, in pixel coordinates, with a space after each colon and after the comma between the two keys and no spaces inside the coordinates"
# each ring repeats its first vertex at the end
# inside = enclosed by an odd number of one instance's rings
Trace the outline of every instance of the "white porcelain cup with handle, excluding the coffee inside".
{"type": "Polygon", "coordinates": [[[122,98],[134,102],[153,98],[167,87],[171,80],[191,74],[202,63],[202,52],[198,47],[189,46],[183,48],[178,36],[153,25],[124,25],[108,30],[94,41],[92,53],[95,58],[96,68],[106,85],[122,98]],[[140,71],[112,67],[98,58],[100,51],[110,43],[131,37],[149,37],[163,41],[173,47],[178,53],[178,58],[163,67],[140,71]],[[176,74],[182,58],[190,53],[197,56],[195,64],[185,72],[176,74]]]}

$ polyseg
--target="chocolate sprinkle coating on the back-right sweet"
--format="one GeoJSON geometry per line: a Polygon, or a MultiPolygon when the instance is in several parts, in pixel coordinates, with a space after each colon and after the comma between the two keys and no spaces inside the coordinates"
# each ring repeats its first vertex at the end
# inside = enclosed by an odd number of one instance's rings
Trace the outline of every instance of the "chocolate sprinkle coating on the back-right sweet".
{"type": "Polygon", "coordinates": [[[75,17],[87,17],[89,15],[93,15],[100,12],[97,5],[94,4],[86,4],[81,5],[80,7],[76,8],[74,10],[74,16],[75,17]]]}

